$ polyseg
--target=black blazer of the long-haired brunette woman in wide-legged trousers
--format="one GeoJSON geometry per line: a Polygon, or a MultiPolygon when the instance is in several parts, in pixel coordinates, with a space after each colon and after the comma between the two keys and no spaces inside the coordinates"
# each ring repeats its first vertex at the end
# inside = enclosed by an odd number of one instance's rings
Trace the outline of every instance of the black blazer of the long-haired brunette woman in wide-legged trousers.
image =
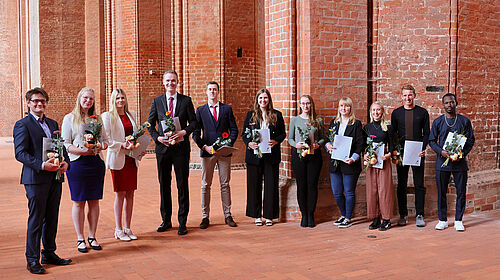
{"type": "MultiPolygon", "coordinates": [[[[257,155],[253,153],[252,149],[246,149],[245,153],[245,162],[253,165],[259,165],[262,160],[270,160],[271,164],[278,164],[281,162],[281,142],[286,138],[285,132],[285,121],[283,120],[283,115],[280,111],[275,110],[277,113],[276,125],[270,125],[269,131],[271,133],[271,139],[278,142],[278,144],[274,145],[271,149],[271,154],[263,154],[262,158],[258,158],[257,155]]],[[[252,119],[252,111],[248,111],[247,116],[245,117],[245,122],[243,124],[243,131],[241,134],[241,139],[245,142],[245,145],[248,147],[248,143],[250,143],[251,139],[245,135],[246,128],[255,128],[260,129],[260,123],[255,123],[254,125],[250,125],[252,119]]]]}

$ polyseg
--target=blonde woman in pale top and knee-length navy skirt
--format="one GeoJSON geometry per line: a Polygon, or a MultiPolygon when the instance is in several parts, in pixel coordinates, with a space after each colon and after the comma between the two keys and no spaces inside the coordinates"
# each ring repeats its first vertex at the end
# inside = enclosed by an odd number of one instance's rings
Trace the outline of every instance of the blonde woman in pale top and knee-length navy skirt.
{"type": "Polygon", "coordinates": [[[83,235],[85,221],[85,204],[88,205],[87,219],[89,223],[88,242],[92,249],[101,250],[95,238],[99,220],[99,200],[102,199],[105,166],[101,149],[106,149],[107,139],[101,133],[101,147],[88,149],[84,144],[85,128],[91,116],[95,116],[95,94],[91,88],[82,88],[76,98],[73,111],[64,116],[62,137],[69,154],[71,168],[67,171],[68,184],[73,207],[71,209],[73,223],[77,235],[79,252],[88,252],[83,235]]]}

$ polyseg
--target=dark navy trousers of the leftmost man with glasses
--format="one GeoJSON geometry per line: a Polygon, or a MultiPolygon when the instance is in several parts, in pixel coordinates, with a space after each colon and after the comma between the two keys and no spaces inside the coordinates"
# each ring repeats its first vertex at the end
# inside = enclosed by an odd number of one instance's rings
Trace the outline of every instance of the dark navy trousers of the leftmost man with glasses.
{"type": "Polygon", "coordinates": [[[40,260],[40,238],[44,252],[56,250],[57,222],[61,202],[61,183],[24,185],[28,198],[28,230],[26,233],[26,260],[40,260]]]}

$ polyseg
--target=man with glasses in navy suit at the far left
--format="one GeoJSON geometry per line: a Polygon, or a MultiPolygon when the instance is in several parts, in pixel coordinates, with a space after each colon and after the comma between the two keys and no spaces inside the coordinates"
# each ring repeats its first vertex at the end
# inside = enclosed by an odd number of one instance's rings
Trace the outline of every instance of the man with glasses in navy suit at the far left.
{"type": "Polygon", "coordinates": [[[65,149],[64,160],[43,159],[43,138],[52,138],[59,130],[56,121],[45,116],[49,101],[48,94],[41,88],[26,92],[29,114],[14,126],[14,147],[16,159],[23,164],[21,184],[24,184],[28,198],[28,230],[26,234],[27,269],[33,274],[41,274],[45,269],[40,265],[40,238],[42,238],[42,264],[67,265],[70,259],[56,255],[57,221],[61,201],[62,181],[56,179],[59,170],[64,174],[69,167],[69,157],[65,149]]]}

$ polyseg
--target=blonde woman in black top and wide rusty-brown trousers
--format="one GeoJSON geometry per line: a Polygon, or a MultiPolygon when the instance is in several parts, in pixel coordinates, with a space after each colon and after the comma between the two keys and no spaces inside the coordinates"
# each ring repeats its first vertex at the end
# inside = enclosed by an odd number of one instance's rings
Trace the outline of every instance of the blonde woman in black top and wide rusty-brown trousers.
{"type": "MultiPolygon", "coordinates": [[[[385,109],[382,103],[375,101],[370,106],[370,123],[365,125],[365,132],[373,137],[373,142],[384,143],[385,152],[383,169],[368,167],[366,169],[366,204],[368,219],[373,220],[369,229],[385,231],[391,228],[392,209],[394,205],[394,189],[391,166],[391,127],[385,120],[385,109]],[[382,216],[382,223],[380,221],[382,216]]],[[[365,137],[366,139],[366,137],[365,137]]],[[[365,154],[365,160],[369,156],[365,154]]]]}

